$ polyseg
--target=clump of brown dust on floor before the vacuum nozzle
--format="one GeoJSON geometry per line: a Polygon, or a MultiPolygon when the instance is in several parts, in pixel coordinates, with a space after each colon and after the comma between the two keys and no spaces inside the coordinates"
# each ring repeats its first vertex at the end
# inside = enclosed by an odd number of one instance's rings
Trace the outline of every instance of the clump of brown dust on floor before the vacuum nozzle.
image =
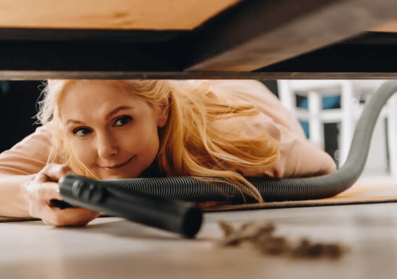
{"type": "Polygon", "coordinates": [[[338,243],[316,243],[301,239],[293,244],[286,237],[274,235],[276,226],[271,221],[251,221],[235,228],[226,221],[219,221],[224,238],[218,241],[218,246],[239,246],[249,243],[264,255],[290,256],[293,258],[331,258],[343,256],[347,250],[338,243]]]}

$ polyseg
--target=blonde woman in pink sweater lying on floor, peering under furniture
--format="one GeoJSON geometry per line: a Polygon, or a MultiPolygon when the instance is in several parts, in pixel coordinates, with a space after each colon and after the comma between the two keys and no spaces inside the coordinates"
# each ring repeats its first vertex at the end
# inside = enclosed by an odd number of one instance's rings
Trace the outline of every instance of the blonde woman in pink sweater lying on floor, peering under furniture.
{"type": "Polygon", "coordinates": [[[258,81],[50,80],[38,119],[35,133],[0,154],[0,216],[87,224],[98,213],[49,202],[61,199],[57,181],[71,172],[225,177],[261,202],[243,176],[335,171],[258,81]]]}

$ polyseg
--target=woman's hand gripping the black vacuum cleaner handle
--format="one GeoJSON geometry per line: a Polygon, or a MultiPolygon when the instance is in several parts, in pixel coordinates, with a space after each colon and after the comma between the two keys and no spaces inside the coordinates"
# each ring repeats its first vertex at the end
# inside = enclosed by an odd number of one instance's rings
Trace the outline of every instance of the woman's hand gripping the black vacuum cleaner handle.
{"type": "Polygon", "coordinates": [[[83,226],[99,216],[98,212],[85,208],[61,209],[51,204],[51,200],[62,200],[58,180],[72,173],[66,165],[46,165],[27,185],[27,202],[29,214],[40,218],[47,225],[83,226]]]}

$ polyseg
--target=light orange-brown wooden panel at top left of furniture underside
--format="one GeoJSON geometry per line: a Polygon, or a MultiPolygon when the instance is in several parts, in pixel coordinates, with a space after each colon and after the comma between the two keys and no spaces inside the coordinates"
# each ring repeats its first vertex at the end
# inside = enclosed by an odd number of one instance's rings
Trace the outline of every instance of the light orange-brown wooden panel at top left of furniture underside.
{"type": "Polygon", "coordinates": [[[2,0],[0,27],[184,29],[239,0],[2,0]]]}

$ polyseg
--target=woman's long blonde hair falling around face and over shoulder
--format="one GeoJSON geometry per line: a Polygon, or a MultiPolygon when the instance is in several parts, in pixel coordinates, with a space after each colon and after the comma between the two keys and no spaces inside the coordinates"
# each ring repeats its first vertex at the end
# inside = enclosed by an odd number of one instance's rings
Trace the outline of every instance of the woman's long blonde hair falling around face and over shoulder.
{"type": "MultiPolygon", "coordinates": [[[[62,128],[58,104],[66,89],[83,80],[48,80],[39,102],[37,118],[50,125],[50,161],[68,164],[76,173],[94,175],[73,156],[62,128]]],[[[250,168],[268,169],[279,158],[279,144],[266,129],[247,131],[247,117],[258,116],[254,104],[231,101],[216,94],[206,81],[120,80],[113,83],[151,106],[168,100],[169,118],[159,130],[158,164],[167,176],[222,177],[262,202],[258,190],[240,173],[250,168]],[[224,125],[225,121],[229,125],[224,125]]]]}

